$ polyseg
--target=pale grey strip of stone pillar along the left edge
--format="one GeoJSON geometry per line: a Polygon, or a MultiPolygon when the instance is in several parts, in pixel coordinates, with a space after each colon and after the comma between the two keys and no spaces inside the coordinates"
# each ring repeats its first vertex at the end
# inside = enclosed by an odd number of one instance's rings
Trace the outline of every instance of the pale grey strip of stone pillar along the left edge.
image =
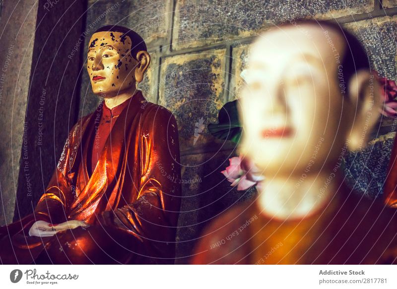
{"type": "Polygon", "coordinates": [[[12,1],[1,3],[0,225],[11,223],[14,216],[37,5],[27,0],[15,9],[12,1]]]}

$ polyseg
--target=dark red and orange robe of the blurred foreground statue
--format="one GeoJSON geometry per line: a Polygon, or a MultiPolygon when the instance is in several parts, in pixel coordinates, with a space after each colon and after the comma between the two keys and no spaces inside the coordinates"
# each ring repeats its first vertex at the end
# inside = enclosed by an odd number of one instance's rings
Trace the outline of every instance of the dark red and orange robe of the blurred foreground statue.
{"type": "Polygon", "coordinates": [[[202,233],[193,264],[396,264],[397,211],[345,185],[303,219],[261,213],[258,201],[221,215],[202,233]]]}

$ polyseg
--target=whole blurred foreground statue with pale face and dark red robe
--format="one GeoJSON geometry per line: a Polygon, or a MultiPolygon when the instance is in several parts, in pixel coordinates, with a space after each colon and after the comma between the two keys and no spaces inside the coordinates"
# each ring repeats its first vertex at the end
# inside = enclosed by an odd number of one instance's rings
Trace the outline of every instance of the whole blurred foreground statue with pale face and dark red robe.
{"type": "Polygon", "coordinates": [[[336,23],[302,20],[253,43],[241,92],[241,155],[258,197],[202,232],[193,264],[391,264],[397,211],[350,190],[346,150],[369,141],[381,106],[369,59],[336,23]]]}

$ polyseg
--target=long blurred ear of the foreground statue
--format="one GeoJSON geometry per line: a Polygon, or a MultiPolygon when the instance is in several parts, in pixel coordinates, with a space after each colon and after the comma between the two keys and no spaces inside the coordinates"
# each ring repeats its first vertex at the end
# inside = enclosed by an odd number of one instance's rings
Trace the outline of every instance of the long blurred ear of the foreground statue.
{"type": "Polygon", "coordinates": [[[364,148],[380,116],[382,105],[377,78],[367,70],[357,71],[349,81],[349,100],[355,108],[353,124],[347,137],[349,150],[364,148]]]}

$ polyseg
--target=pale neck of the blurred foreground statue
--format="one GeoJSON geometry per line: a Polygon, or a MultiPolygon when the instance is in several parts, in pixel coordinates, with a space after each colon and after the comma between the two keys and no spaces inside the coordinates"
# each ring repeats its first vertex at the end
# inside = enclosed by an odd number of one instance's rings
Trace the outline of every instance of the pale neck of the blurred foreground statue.
{"type": "Polygon", "coordinates": [[[327,205],[340,178],[331,171],[298,176],[266,176],[259,186],[262,213],[277,219],[302,219],[327,205]]]}

